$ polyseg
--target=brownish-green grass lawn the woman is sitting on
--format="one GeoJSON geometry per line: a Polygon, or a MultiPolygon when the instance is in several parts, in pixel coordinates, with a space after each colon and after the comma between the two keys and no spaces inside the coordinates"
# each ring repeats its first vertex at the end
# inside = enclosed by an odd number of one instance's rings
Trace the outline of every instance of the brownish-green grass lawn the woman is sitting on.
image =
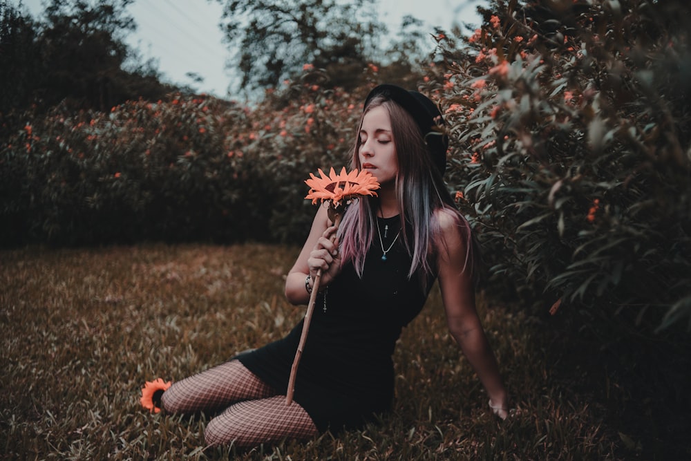
{"type": "Polygon", "coordinates": [[[0,252],[0,457],[691,457],[688,372],[679,369],[688,356],[659,344],[652,347],[665,355],[645,361],[634,348],[605,347],[556,318],[529,317],[481,295],[480,315],[516,409],[501,422],[446,331],[436,288],[399,341],[395,409],[379,424],[237,451],[205,448],[205,417],[143,411],[146,380],[181,379],[278,339],[299,321],[303,308],[283,299],[297,252],[267,245],[0,252]]]}

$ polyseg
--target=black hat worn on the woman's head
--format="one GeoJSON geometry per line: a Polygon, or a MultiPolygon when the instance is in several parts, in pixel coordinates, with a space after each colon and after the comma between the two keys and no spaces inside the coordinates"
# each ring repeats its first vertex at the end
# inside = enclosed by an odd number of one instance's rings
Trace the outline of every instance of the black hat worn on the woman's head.
{"type": "Polygon", "coordinates": [[[367,107],[372,97],[377,95],[382,95],[396,102],[413,117],[417,126],[420,127],[420,131],[422,131],[422,136],[432,154],[433,163],[443,176],[444,171],[446,171],[448,137],[439,129],[439,126],[444,125],[444,119],[436,104],[417,91],[408,91],[400,86],[384,84],[370,91],[365,100],[365,107],[367,107]]]}

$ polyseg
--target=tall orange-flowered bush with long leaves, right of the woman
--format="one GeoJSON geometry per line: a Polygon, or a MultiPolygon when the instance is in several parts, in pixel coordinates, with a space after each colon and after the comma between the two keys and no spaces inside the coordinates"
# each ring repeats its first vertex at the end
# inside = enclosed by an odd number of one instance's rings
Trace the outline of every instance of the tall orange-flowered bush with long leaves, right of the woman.
{"type": "Polygon", "coordinates": [[[439,39],[447,65],[427,80],[451,126],[451,184],[495,281],[552,312],[658,326],[663,307],[663,327],[691,314],[679,3],[495,1],[471,37],[439,39]]]}

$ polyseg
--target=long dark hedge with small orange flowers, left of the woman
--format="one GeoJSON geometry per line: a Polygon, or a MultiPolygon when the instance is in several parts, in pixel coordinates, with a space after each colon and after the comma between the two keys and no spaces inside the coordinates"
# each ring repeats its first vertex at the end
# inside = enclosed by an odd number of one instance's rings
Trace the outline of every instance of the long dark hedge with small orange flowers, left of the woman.
{"type": "Polygon", "coordinates": [[[26,113],[0,147],[3,245],[299,242],[314,214],[305,174],[348,163],[359,109],[309,79],[284,91],[280,109],[279,95],[254,109],[171,95],[26,113]]]}

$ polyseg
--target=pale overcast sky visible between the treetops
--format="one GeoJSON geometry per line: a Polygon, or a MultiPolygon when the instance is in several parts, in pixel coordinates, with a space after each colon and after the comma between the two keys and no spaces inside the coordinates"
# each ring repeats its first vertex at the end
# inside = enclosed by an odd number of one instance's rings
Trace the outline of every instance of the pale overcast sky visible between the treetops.
{"type": "MultiPolygon", "coordinates": [[[[19,4],[19,0],[10,0],[19,4]]],[[[28,11],[37,16],[43,0],[23,0],[28,11]]],[[[430,32],[435,26],[450,28],[452,23],[479,23],[475,13],[482,0],[379,0],[381,19],[395,31],[404,15],[422,19],[430,32]]],[[[163,78],[175,84],[188,84],[198,91],[220,97],[234,76],[225,69],[231,53],[222,43],[218,28],[221,16],[218,2],[207,0],[135,0],[129,12],[137,30],[127,43],[138,48],[143,59],[154,58],[163,78]],[[194,83],[187,73],[204,79],[194,83]]]]}

